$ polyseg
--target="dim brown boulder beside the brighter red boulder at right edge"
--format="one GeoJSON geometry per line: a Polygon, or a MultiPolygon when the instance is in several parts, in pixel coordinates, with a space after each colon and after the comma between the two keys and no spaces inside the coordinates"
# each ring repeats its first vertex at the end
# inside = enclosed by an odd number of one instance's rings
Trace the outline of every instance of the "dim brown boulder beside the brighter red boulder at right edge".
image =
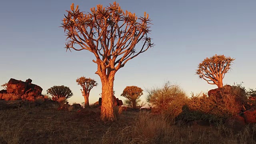
{"type": "Polygon", "coordinates": [[[240,131],[245,126],[245,121],[242,116],[232,116],[225,120],[224,126],[240,131]]]}

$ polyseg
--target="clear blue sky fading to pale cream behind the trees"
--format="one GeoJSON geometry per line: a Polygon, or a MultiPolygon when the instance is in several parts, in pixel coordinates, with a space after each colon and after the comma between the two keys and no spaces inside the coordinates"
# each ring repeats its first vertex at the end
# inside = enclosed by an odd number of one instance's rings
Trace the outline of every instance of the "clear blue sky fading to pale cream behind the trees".
{"type": "MultiPolygon", "coordinates": [[[[43,88],[70,87],[69,102],[84,101],[76,78],[94,78],[89,102],[100,97],[101,83],[94,55],[89,51],[66,52],[61,20],[70,4],[89,12],[97,4],[113,0],[1,0],[0,4],[0,84],[10,78],[43,88]]],[[[191,92],[207,92],[215,85],[198,79],[195,70],[206,57],[224,54],[236,58],[224,84],[244,82],[256,88],[256,1],[255,0],[118,0],[123,10],[152,19],[154,48],[130,60],[114,81],[116,97],[126,86],[142,89],[161,86],[166,80],[191,92]]],[[[146,96],[146,92],[144,92],[146,96]]],[[[144,100],[142,96],[142,100],[144,100]]]]}

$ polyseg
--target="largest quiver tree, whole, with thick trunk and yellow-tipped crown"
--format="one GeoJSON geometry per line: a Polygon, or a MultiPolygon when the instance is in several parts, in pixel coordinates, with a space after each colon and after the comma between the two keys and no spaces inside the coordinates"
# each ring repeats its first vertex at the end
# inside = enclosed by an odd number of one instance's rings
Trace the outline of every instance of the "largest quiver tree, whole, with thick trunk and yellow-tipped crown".
{"type": "Polygon", "coordinates": [[[68,40],[66,50],[88,50],[95,55],[96,59],[92,60],[98,66],[95,74],[100,76],[102,82],[100,118],[114,121],[114,76],[128,60],[153,46],[148,37],[151,20],[146,12],[142,17],[127,10],[124,12],[116,2],[105,8],[98,4],[88,13],[80,11],[78,6],[75,9],[74,4],[70,9],[66,10],[68,14],[61,26],[68,40]],[[136,49],[140,41],[142,45],[136,49]]]}

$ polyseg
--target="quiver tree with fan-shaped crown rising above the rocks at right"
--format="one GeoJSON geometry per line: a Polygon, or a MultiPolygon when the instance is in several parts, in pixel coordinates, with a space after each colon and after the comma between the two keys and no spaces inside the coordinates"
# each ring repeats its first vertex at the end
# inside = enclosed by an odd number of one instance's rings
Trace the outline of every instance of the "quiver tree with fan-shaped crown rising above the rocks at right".
{"type": "Polygon", "coordinates": [[[234,58],[226,57],[224,55],[217,55],[210,58],[205,58],[200,64],[196,74],[199,78],[203,78],[208,84],[216,84],[218,88],[223,87],[223,78],[225,74],[230,70],[231,62],[234,58]]]}

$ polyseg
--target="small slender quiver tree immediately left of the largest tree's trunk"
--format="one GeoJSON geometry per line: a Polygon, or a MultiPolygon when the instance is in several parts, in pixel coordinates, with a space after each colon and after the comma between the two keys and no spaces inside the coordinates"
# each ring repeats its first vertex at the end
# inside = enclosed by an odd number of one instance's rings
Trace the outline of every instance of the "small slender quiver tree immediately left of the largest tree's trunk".
{"type": "Polygon", "coordinates": [[[82,92],[82,95],[84,96],[84,107],[90,108],[90,104],[89,104],[90,91],[94,86],[98,85],[97,82],[91,78],[85,78],[84,76],[77,78],[76,82],[78,85],[82,87],[82,89],[80,90],[82,92]]]}

